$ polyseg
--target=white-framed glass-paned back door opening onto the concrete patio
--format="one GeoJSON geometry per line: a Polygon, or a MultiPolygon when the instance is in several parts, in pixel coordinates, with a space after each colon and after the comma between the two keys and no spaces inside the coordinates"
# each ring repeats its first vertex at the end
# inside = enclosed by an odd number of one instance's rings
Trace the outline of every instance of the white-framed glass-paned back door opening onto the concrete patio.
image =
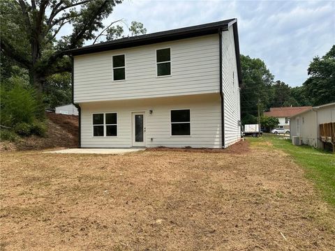
{"type": "Polygon", "coordinates": [[[133,112],[133,146],[145,146],[145,113],[133,112]]]}

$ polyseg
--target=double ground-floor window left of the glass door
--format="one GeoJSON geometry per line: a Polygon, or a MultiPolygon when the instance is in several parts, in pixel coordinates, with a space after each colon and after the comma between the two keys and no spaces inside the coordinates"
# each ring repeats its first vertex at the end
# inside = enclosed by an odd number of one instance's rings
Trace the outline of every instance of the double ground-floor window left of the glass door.
{"type": "Polygon", "coordinates": [[[93,114],[93,136],[117,136],[117,113],[93,114]]]}

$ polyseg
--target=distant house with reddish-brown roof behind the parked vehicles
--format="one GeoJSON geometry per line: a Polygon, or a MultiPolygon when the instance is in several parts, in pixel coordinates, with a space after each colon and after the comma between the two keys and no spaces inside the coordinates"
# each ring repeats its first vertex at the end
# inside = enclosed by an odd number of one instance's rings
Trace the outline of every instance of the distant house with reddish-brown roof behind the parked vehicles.
{"type": "Polygon", "coordinates": [[[270,112],[264,112],[264,116],[273,116],[278,119],[278,127],[284,129],[290,129],[290,116],[299,114],[308,109],[311,109],[311,106],[305,107],[271,107],[270,112]]]}

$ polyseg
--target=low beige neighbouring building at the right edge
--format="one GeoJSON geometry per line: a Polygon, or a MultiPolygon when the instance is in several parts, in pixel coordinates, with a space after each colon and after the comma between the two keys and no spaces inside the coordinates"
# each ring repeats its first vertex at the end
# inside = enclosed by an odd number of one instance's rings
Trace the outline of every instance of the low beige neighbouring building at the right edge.
{"type": "Polygon", "coordinates": [[[300,137],[301,144],[323,148],[320,124],[335,122],[335,102],[310,109],[290,117],[290,136],[300,137]]]}

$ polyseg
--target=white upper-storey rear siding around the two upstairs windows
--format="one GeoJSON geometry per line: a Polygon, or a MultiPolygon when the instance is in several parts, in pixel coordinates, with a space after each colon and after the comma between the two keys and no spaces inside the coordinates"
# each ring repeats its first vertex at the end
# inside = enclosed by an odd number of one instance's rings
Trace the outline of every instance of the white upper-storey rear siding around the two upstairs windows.
{"type": "Polygon", "coordinates": [[[74,56],[74,100],[93,102],[219,91],[218,35],[74,56]],[[156,50],[171,48],[170,77],[157,77],[156,50]],[[126,80],[113,82],[112,56],[126,55],[126,80]]]}

